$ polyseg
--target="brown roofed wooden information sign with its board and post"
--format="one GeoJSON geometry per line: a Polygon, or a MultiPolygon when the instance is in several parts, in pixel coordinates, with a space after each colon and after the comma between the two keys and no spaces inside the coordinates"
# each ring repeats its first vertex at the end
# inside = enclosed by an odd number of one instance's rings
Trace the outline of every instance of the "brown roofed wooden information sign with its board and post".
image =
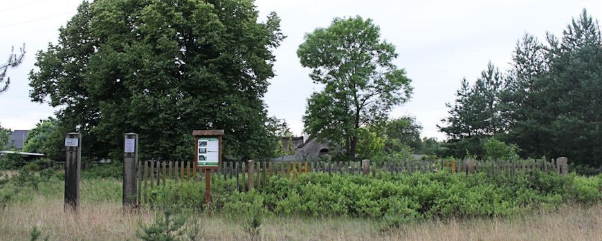
{"type": "Polygon", "coordinates": [[[194,130],[195,168],[205,169],[205,200],[211,204],[211,169],[221,166],[221,136],[224,130],[194,130]]]}

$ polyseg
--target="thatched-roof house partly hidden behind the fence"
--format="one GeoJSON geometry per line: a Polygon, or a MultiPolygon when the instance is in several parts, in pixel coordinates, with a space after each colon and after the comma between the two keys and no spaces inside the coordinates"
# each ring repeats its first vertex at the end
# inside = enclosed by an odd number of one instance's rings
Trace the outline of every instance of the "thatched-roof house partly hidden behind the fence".
{"type": "MultiPolygon", "coordinates": [[[[318,139],[304,136],[304,137],[291,137],[293,142],[293,154],[283,155],[274,158],[275,161],[292,162],[292,161],[306,161],[306,160],[318,160],[322,157],[326,157],[329,153],[336,153],[340,150],[336,146],[331,146],[327,140],[318,142],[318,139]]],[[[289,147],[289,137],[280,137],[282,147],[284,150],[289,147]]]]}

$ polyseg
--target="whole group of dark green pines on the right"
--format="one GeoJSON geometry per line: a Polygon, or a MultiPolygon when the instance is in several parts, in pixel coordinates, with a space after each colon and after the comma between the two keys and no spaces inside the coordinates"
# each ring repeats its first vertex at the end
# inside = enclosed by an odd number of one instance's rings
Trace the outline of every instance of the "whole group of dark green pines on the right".
{"type": "Polygon", "coordinates": [[[525,35],[516,44],[511,68],[489,64],[470,86],[462,81],[448,104],[447,155],[482,157],[495,137],[516,144],[522,157],[569,157],[602,168],[602,37],[584,9],[560,37],[542,44],[525,35]]]}

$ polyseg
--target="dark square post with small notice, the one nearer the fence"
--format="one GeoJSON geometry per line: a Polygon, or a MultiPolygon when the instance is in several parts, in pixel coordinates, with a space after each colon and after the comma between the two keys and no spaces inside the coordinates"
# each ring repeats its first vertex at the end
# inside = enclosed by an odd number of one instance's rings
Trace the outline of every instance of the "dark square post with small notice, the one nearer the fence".
{"type": "Polygon", "coordinates": [[[136,205],[136,164],[138,164],[138,134],[127,133],[123,145],[123,208],[136,205]]]}

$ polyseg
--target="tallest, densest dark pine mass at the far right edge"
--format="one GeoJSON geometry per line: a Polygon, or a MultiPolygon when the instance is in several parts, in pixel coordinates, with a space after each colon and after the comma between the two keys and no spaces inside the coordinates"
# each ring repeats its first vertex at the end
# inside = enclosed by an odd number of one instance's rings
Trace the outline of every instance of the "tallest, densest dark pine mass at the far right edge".
{"type": "Polygon", "coordinates": [[[517,44],[503,96],[507,140],[521,155],[602,165],[601,46],[599,26],[585,9],[560,38],[549,34],[540,44],[527,35],[517,44]]]}

